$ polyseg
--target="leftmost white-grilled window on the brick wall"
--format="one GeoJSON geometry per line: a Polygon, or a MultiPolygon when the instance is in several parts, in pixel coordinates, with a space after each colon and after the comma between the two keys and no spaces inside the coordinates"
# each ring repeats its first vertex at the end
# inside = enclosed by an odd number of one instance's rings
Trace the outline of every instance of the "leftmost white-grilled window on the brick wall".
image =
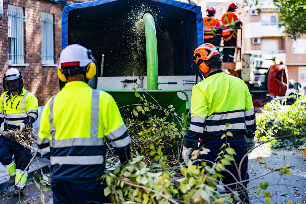
{"type": "Polygon", "coordinates": [[[22,7],[8,5],[9,64],[24,64],[22,7]]]}

